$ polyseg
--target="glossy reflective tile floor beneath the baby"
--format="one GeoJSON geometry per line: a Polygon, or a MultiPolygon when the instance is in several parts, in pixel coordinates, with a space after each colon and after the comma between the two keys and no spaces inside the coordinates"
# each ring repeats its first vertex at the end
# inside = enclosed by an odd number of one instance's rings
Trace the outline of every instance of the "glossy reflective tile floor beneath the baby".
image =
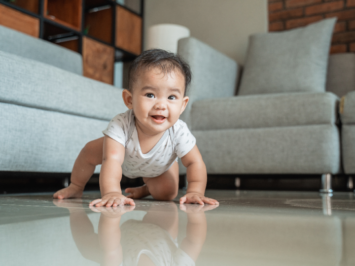
{"type": "Polygon", "coordinates": [[[89,208],[98,192],[0,196],[0,265],[355,265],[353,193],[206,195],[219,206],[146,198],[89,208]]]}

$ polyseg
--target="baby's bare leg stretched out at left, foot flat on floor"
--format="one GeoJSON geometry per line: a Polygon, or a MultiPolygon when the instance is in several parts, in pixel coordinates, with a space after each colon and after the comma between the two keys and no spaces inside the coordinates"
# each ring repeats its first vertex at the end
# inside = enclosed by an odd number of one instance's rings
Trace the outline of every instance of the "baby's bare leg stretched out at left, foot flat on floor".
{"type": "Polygon", "coordinates": [[[53,198],[68,199],[81,198],[86,183],[95,171],[97,165],[102,164],[104,137],[88,142],[76,158],[71,171],[71,184],[57,191],[53,198]]]}

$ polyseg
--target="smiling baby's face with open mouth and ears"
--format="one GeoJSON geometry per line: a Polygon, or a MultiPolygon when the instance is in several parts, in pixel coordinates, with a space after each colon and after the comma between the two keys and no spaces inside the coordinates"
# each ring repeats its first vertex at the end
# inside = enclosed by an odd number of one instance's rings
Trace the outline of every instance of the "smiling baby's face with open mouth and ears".
{"type": "Polygon", "coordinates": [[[165,132],[177,121],[186,107],[185,78],[179,71],[164,75],[160,69],[140,72],[133,85],[131,102],[136,127],[148,135],[165,132]]]}

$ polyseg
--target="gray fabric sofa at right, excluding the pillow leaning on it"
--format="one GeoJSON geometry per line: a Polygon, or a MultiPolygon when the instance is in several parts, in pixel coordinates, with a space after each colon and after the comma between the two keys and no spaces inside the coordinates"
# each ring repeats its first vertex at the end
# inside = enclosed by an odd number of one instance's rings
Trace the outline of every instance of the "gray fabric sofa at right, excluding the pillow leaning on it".
{"type": "MultiPolygon", "coordinates": [[[[355,89],[353,53],[330,56],[326,92],[252,95],[238,95],[242,66],[212,47],[184,38],[178,53],[193,72],[181,119],[196,136],[209,174],[322,174],[322,191],[331,192],[331,174],[343,172],[338,105],[355,89]]],[[[343,118],[352,124],[352,132],[343,126],[345,168],[355,165],[354,96],[346,98],[353,120],[343,118]]],[[[180,173],[186,173],[181,164],[180,173]]]]}

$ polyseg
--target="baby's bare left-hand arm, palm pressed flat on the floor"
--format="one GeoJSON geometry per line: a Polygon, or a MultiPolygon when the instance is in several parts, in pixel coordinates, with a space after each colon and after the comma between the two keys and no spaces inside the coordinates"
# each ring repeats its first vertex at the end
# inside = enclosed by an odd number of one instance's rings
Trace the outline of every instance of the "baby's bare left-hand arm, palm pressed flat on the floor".
{"type": "Polygon", "coordinates": [[[103,163],[100,171],[101,199],[90,202],[90,206],[135,205],[133,199],[122,195],[121,179],[125,148],[116,140],[105,135],[103,148],[103,163]]]}

